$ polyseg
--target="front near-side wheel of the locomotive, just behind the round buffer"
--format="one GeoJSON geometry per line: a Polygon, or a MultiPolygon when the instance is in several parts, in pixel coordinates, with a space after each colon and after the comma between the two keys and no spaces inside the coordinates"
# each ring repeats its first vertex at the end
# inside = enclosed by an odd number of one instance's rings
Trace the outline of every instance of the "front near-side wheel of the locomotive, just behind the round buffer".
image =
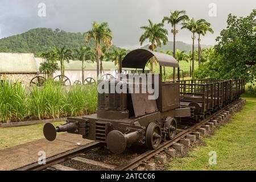
{"type": "Polygon", "coordinates": [[[146,131],[146,145],[148,148],[157,148],[162,141],[162,133],[160,126],[154,122],[151,122],[146,131]]]}

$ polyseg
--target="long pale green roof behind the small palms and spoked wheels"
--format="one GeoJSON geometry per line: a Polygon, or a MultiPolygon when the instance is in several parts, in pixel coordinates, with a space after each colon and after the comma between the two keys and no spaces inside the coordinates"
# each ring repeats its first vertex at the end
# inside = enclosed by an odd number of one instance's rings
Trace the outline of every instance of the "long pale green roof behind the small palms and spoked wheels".
{"type": "MultiPolygon", "coordinates": [[[[40,63],[43,63],[44,59],[41,57],[36,57],[35,58],[36,63],[38,65],[38,69],[40,67],[40,63]]],[[[57,61],[57,63],[60,66],[60,62],[57,61]]],[[[67,63],[67,61],[64,61],[64,66],[65,66],[65,70],[81,70],[82,68],[82,61],[79,60],[69,60],[69,63],[67,63]]],[[[114,64],[114,62],[112,61],[102,61],[102,67],[104,70],[112,70],[112,69],[118,69],[117,65],[114,64]]],[[[92,62],[92,61],[85,61],[85,70],[96,70],[97,69],[97,64],[96,62],[92,62]]],[[[123,69],[127,69],[127,68],[123,68],[123,69]]],[[[145,70],[149,70],[148,68],[146,68],[145,70]]]]}

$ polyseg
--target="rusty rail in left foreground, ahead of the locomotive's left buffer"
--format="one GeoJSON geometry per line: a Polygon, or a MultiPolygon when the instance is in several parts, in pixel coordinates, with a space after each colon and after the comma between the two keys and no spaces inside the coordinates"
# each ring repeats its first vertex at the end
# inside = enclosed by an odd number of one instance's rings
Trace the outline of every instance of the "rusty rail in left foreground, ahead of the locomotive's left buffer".
{"type": "Polygon", "coordinates": [[[47,158],[46,164],[32,163],[32,164],[28,164],[27,166],[14,169],[14,171],[40,171],[40,170],[46,169],[47,167],[51,167],[57,163],[64,162],[67,159],[74,158],[80,155],[82,152],[88,151],[92,148],[96,148],[99,146],[101,146],[100,142],[92,142],[92,143],[86,144],[85,146],[77,147],[73,150],[69,150],[67,152],[63,152],[61,154],[47,158]]]}

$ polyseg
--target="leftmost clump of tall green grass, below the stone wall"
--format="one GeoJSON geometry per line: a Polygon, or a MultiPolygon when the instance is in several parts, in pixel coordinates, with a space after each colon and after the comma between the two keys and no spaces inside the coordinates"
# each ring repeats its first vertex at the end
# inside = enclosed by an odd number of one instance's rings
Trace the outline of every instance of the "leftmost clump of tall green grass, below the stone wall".
{"type": "Polygon", "coordinates": [[[27,117],[27,100],[20,82],[0,82],[0,122],[21,121],[27,117]]]}

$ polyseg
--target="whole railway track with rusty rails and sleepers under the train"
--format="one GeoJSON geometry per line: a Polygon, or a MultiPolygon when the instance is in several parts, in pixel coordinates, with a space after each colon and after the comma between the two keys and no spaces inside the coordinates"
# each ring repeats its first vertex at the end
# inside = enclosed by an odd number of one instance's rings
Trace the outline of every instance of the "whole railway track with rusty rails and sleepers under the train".
{"type": "Polygon", "coordinates": [[[46,168],[54,168],[62,171],[76,170],[72,167],[67,167],[60,164],[71,159],[87,165],[98,166],[102,169],[109,169],[115,171],[133,170],[141,165],[143,165],[148,170],[154,170],[154,164],[148,162],[148,160],[150,160],[151,158],[155,158],[161,163],[164,163],[164,159],[166,159],[166,156],[159,155],[160,152],[164,151],[166,154],[173,156],[175,155],[176,150],[182,151],[183,145],[188,146],[191,142],[194,142],[197,138],[200,137],[200,134],[205,134],[206,131],[209,131],[212,127],[218,125],[218,122],[221,122],[223,121],[223,119],[228,118],[234,111],[240,110],[243,104],[245,104],[244,100],[234,101],[229,106],[226,106],[221,110],[217,111],[216,113],[210,115],[209,118],[204,119],[200,123],[196,123],[193,126],[187,126],[185,129],[179,129],[179,133],[175,136],[174,139],[163,142],[155,150],[147,150],[141,155],[135,156],[134,158],[127,160],[127,162],[121,165],[115,166],[112,164],[99,162],[97,160],[82,158],[81,155],[86,154],[86,152],[102,147],[101,143],[93,142],[86,146],[81,146],[75,148],[74,150],[52,156],[51,158],[47,158],[46,164],[44,165],[33,163],[15,170],[39,171],[46,168]]]}

